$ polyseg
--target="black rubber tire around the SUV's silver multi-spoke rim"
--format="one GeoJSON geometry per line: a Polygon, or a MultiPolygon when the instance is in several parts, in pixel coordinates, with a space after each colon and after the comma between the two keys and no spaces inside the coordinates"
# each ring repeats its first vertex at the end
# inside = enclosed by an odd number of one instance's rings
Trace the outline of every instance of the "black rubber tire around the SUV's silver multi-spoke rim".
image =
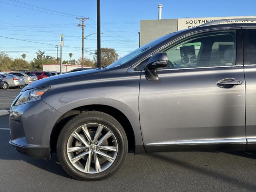
{"type": "Polygon", "coordinates": [[[128,141],[121,124],[112,116],[99,111],[83,112],[74,116],[60,132],[57,142],[58,160],[62,168],[77,180],[102,180],[115,174],[124,163],[128,152],[128,141]],[[75,168],[70,162],[67,154],[68,138],[83,124],[98,123],[106,126],[115,136],[118,143],[118,152],[112,165],[106,170],[94,174],[82,172],[75,168]]]}

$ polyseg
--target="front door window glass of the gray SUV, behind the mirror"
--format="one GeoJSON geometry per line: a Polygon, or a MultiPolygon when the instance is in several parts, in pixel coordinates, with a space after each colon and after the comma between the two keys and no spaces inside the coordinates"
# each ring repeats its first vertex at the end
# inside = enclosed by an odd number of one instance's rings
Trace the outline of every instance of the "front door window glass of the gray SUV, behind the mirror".
{"type": "Polygon", "coordinates": [[[163,50],[166,68],[230,66],[236,64],[236,31],[208,32],[163,50]]]}

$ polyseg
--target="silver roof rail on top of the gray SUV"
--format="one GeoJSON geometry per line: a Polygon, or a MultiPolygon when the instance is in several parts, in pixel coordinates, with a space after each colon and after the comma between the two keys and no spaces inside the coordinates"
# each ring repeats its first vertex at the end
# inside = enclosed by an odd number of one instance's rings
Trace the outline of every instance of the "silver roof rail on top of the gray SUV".
{"type": "Polygon", "coordinates": [[[199,25],[198,27],[210,26],[210,25],[218,25],[218,24],[230,24],[230,23],[256,23],[255,18],[243,18],[243,19],[219,19],[204,23],[199,25]]]}

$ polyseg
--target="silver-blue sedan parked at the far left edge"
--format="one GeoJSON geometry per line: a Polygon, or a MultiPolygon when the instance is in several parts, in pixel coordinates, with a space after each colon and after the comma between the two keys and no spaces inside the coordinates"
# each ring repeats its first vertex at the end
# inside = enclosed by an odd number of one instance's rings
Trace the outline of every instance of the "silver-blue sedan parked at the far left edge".
{"type": "Polygon", "coordinates": [[[4,84],[2,89],[9,89],[10,87],[20,87],[25,86],[24,78],[18,77],[13,74],[1,73],[0,74],[4,78],[4,84]]]}

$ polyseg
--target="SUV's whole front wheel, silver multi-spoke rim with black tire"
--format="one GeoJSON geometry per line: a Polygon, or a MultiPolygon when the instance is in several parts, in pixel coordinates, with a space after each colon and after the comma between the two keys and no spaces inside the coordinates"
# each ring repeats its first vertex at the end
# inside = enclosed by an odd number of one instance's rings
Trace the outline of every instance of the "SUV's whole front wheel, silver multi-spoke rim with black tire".
{"type": "Polygon", "coordinates": [[[57,154],[62,168],[78,180],[112,176],[124,163],[128,141],[112,116],[98,111],[74,116],[62,129],[57,154]]]}

